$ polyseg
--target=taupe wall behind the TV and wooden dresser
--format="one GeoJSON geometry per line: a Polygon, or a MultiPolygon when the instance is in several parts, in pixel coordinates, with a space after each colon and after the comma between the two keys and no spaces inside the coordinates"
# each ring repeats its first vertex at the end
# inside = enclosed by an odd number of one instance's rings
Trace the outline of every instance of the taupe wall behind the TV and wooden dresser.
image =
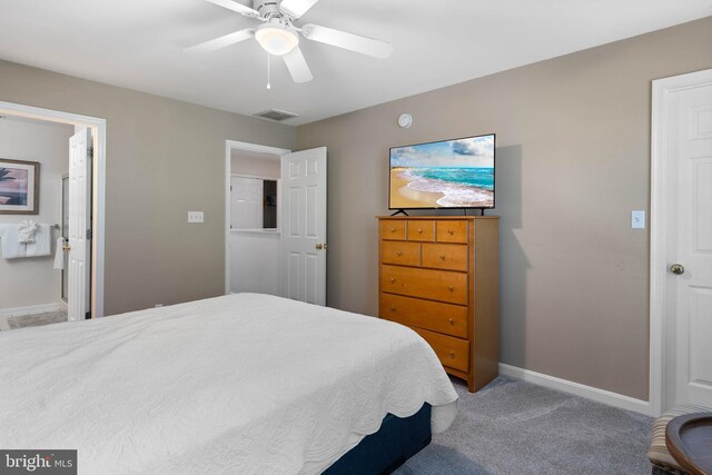
{"type": "Polygon", "coordinates": [[[646,400],[651,80],[711,44],[712,17],[299,127],[329,154],[328,305],[377,314],[388,147],[496,132],[501,360],[646,400]]]}

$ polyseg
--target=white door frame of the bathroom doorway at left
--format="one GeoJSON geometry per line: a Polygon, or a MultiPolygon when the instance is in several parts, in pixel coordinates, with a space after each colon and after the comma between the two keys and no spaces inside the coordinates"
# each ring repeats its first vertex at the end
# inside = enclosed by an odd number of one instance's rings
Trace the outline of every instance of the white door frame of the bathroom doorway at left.
{"type": "Polygon", "coordinates": [[[79,127],[90,127],[93,138],[93,169],[91,174],[91,316],[103,317],[103,255],[105,255],[105,208],[106,208],[106,138],[107,121],[98,117],[81,116],[52,109],[43,109],[33,106],[24,106],[14,102],[0,101],[0,113],[26,117],[29,119],[48,120],[52,122],[69,123],[79,127]]]}

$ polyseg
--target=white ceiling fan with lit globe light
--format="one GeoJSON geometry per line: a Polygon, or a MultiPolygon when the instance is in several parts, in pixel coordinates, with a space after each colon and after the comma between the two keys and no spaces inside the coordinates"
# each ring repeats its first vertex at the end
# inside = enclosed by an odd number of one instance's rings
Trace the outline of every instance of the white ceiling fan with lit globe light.
{"type": "Polygon", "coordinates": [[[332,44],[374,58],[385,59],[393,52],[393,46],[386,41],[312,23],[300,28],[296,27],[294,21],[314,7],[318,0],[253,0],[253,8],[234,0],[206,1],[259,20],[263,24],[215,38],[187,48],[186,51],[209,52],[255,38],[269,55],[284,58],[295,82],[307,82],[314,79],[299,49],[299,33],[312,41],[332,44]]]}

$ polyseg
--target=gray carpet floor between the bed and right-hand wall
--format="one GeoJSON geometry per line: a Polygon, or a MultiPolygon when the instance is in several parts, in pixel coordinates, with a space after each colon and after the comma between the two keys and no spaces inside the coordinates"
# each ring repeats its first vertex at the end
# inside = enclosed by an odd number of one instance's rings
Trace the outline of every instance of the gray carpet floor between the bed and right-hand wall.
{"type": "Polygon", "coordinates": [[[455,422],[395,474],[650,474],[652,417],[504,376],[453,384],[455,422]]]}

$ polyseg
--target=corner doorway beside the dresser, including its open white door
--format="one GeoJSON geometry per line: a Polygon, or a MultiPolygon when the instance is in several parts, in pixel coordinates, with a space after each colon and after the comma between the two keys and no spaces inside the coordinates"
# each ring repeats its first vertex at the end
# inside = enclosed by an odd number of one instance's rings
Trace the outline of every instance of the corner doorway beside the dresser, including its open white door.
{"type": "MultiPolygon", "coordinates": [[[[264,164],[263,164],[264,165],[264,164]]],[[[247,172],[249,172],[248,170],[247,172]]],[[[226,146],[226,294],[255,291],[326,305],[326,147],[290,152],[274,147],[227,141],[226,146]],[[260,198],[265,194],[264,177],[234,174],[233,158],[240,154],[270,156],[279,160],[276,181],[277,227],[265,229],[260,198]],[[250,178],[258,178],[250,181],[250,178]],[[254,190],[234,197],[233,180],[254,190]],[[251,201],[251,205],[250,205],[251,201]],[[243,208],[241,217],[233,210],[243,208]],[[251,211],[250,211],[251,209],[251,211]],[[255,219],[250,220],[249,216],[255,219]],[[235,220],[235,221],[234,221],[235,220]],[[234,225],[237,224],[237,227],[234,225]],[[261,225],[260,225],[261,224],[261,225]]]]}

